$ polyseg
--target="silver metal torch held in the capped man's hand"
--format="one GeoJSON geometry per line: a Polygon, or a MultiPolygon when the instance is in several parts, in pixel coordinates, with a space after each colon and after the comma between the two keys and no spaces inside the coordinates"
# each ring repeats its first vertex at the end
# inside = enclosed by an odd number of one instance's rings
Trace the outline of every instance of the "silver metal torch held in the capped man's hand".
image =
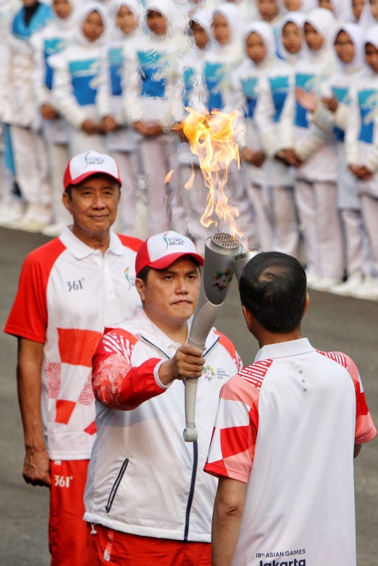
{"type": "MultiPolygon", "coordinates": [[[[230,234],[217,233],[205,242],[201,293],[188,336],[188,344],[201,352],[204,352],[207,336],[228,294],[234,277],[235,256],[242,250],[239,240],[230,234]]],[[[198,437],[195,428],[197,382],[197,378],[185,381],[186,429],[183,437],[186,442],[194,442],[198,437]]]]}

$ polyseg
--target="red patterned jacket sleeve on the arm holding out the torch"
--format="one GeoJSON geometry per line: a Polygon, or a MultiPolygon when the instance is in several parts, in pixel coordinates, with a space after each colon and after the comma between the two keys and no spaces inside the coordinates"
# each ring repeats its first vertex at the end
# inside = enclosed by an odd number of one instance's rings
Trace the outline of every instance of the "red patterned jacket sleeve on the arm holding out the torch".
{"type": "Polygon", "coordinates": [[[99,403],[114,409],[132,410],[165,392],[155,380],[159,358],[132,366],[131,357],[138,338],[120,329],[106,329],[92,359],[92,385],[99,403]]]}

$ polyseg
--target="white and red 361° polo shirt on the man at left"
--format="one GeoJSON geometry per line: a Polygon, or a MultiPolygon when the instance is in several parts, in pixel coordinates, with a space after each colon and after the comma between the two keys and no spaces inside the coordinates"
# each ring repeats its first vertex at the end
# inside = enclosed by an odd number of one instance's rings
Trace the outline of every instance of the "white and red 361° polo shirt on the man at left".
{"type": "Polygon", "coordinates": [[[41,410],[52,460],[90,457],[96,432],[92,355],[106,324],[140,304],[137,238],[111,232],[105,254],[71,230],[27,256],[5,331],[44,344],[41,410]]]}

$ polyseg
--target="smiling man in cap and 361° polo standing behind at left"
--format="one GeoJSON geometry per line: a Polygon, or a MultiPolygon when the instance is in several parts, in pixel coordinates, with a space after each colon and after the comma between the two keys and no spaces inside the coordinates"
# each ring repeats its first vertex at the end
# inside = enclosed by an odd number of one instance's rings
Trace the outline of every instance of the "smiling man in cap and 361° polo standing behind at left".
{"type": "Polygon", "coordinates": [[[118,165],[87,151],[69,161],[63,202],[73,225],[27,256],[5,331],[18,337],[22,472],[50,487],[52,566],[87,564],[83,495],[95,438],[92,355],[104,326],[134,312],[137,238],[110,231],[118,165]]]}

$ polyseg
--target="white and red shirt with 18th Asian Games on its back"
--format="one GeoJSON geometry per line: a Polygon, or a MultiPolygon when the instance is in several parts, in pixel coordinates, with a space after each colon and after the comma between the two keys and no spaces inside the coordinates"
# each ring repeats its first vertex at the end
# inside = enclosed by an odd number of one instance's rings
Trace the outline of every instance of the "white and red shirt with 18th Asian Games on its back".
{"type": "Polygon", "coordinates": [[[353,361],[262,347],[221,391],[204,470],[247,483],[235,566],[356,566],[353,447],[377,433],[353,361]]]}

